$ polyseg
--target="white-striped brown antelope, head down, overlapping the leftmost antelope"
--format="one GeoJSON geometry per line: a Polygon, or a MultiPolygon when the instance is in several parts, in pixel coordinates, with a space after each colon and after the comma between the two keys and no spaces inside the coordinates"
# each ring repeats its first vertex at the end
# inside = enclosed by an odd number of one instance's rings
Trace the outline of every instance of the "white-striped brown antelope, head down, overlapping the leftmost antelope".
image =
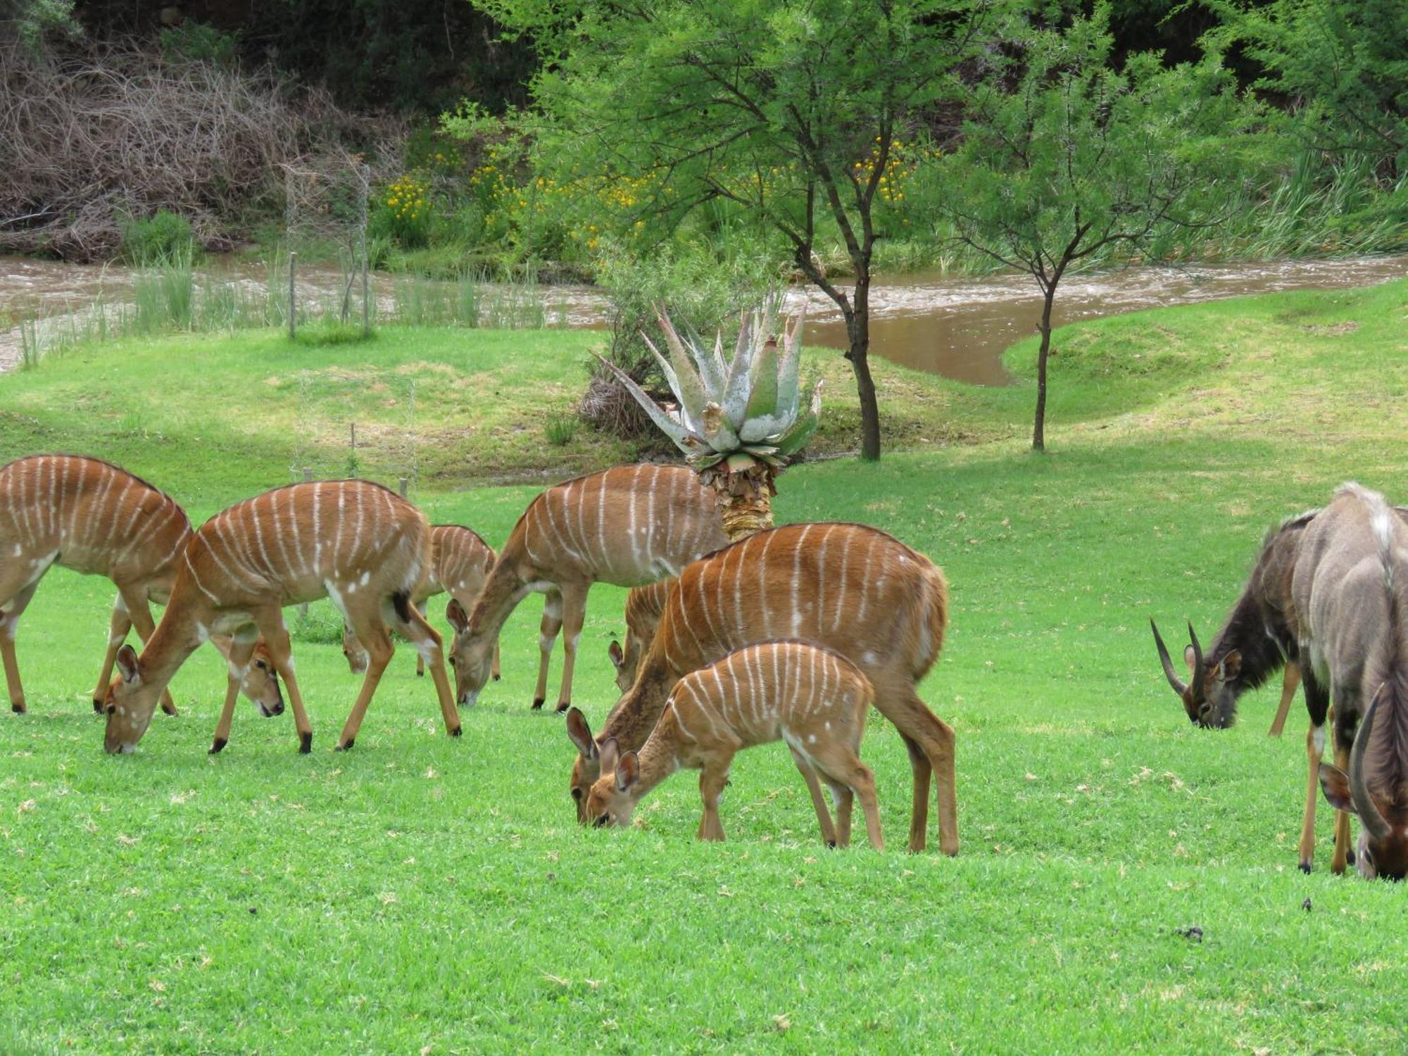
{"type": "Polygon", "coordinates": [[[166,614],[138,656],[117,655],[118,677],[107,704],[108,752],[131,752],[151,722],[158,694],[211,634],[230,634],[230,681],[211,753],[230,739],[238,677],[263,634],[289,686],[298,750],[313,728],[293,674],[284,605],[332,598],[369,663],[338,749],[352,748],[372,694],[391,659],[390,625],[425,655],[439,694],[445,729],[459,736],[459,717],[441,655],[441,639],[411,605],[431,562],[425,517],[387,489],[365,480],[290,484],[210,518],[182,556],[166,614]]]}

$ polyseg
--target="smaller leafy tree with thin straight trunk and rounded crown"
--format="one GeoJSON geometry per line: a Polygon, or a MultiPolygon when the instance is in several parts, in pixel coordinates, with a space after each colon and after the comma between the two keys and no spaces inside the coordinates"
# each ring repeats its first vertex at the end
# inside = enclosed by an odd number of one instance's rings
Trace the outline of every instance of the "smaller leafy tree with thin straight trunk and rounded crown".
{"type": "Polygon", "coordinates": [[[1215,58],[1110,61],[1108,8],[1066,30],[1014,24],[964,93],[938,208],[957,237],[1042,291],[1032,446],[1046,442],[1052,304],[1071,270],[1131,256],[1167,225],[1217,222],[1218,182],[1250,110],[1215,58]]]}

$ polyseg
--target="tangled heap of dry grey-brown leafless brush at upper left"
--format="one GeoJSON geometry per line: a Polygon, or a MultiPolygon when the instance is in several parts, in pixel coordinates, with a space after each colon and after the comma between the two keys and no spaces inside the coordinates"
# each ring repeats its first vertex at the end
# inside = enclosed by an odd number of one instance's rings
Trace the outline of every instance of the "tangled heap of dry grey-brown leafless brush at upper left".
{"type": "Polygon", "coordinates": [[[0,249],[107,258],[122,217],[158,208],[220,248],[232,222],[280,204],[280,165],[358,131],[325,93],[268,70],[132,42],[35,56],[0,41],[0,249]]]}

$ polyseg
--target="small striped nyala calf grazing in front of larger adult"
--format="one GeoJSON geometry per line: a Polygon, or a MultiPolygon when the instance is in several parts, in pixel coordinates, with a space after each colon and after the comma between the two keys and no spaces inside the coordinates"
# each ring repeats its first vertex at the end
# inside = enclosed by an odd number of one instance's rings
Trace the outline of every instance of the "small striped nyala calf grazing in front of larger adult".
{"type": "Polygon", "coordinates": [[[807,642],[763,642],[729,653],[674,683],[665,711],[639,752],[601,745],[603,777],[587,793],[587,819],[629,825],[635,804],[680,769],[700,770],[700,839],[724,839],[718,801],[728,767],[743,748],[786,741],[807,779],[821,838],[850,843],[852,797],[860,797],[870,846],[884,849],[874,774],[856,755],[874,703],[870,680],[845,656],[807,642]],[[821,798],[831,788],[836,822],[821,798]]]}

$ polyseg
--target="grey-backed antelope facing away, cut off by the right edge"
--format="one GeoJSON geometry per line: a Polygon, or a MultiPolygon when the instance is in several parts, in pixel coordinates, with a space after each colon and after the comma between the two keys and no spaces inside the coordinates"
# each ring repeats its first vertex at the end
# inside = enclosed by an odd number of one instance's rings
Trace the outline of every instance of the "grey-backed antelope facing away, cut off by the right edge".
{"type": "Polygon", "coordinates": [[[1311,718],[1300,865],[1314,853],[1315,783],[1340,811],[1331,870],[1408,874],[1408,527],[1377,491],[1345,484],[1311,522],[1291,597],[1311,718]],[[1335,705],[1335,765],[1321,762],[1335,705]],[[1357,734],[1356,734],[1357,727],[1357,734]],[[1349,853],[1349,814],[1359,853],[1349,853]]]}

